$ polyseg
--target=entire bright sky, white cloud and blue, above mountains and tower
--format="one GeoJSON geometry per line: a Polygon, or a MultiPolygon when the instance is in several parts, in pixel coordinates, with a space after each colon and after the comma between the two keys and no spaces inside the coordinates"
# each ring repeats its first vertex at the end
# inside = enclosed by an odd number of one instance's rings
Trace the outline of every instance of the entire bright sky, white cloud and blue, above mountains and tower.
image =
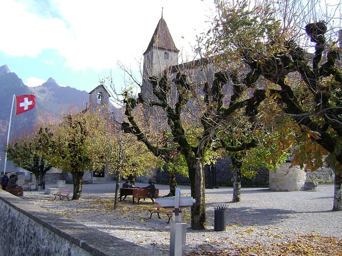
{"type": "Polygon", "coordinates": [[[209,29],[213,0],[1,0],[0,66],[28,86],[49,78],[90,92],[112,76],[136,74],[162,13],[183,59],[192,59],[196,35],[209,29]]]}

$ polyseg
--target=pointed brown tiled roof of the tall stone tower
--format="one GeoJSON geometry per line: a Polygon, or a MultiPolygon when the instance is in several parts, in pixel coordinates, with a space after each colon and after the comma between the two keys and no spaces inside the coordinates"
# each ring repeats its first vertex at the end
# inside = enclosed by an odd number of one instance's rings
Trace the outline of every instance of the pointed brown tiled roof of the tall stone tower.
{"type": "Polygon", "coordinates": [[[163,19],[163,15],[162,15],[162,18],[159,20],[157,27],[154,30],[152,39],[144,55],[151,48],[165,49],[165,50],[170,50],[172,52],[177,52],[177,53],[179,52],[179,50],[177,49],[176,45],[173,42],[168,25],[163,19]]]}

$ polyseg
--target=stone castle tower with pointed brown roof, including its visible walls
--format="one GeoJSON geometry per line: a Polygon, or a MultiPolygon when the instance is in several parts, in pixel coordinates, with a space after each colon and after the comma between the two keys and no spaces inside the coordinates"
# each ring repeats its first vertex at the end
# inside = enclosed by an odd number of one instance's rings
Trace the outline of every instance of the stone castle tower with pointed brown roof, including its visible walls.
{"type": "Polygon", "coordinates": [[[154,30],[149,46],[144,53],[143,82],[141,93],[143,97],[152,96],[152,88],[148,78],[158,78],[164,71],[173,65],[178,64],[179,50],[173,42],[168,25],[162,17],[154,30]]]}

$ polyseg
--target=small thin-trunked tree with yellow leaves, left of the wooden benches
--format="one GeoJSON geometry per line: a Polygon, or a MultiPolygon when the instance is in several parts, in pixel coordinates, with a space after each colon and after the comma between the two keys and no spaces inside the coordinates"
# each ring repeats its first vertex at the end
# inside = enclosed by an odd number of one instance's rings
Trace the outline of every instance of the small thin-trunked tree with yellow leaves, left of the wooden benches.
{"type": "Polygon", "coordinates": [[[143,143],[123,133],[109,115],[94,113],[88,121],[95,131],[89,138],[93,163],[95,166],[105,164],[108,173],[116,177],[114,209],[117,209],[121,177],[133,177],[134,183],[135,177],[149,175],[157,164],[156,158],[143,143]]]}

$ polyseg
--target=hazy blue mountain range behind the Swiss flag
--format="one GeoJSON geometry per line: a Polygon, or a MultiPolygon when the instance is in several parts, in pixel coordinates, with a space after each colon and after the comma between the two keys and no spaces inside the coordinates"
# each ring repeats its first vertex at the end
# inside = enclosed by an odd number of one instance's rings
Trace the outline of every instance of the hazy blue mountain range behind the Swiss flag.
{"type": "MultiPolygon", "coordinates": [[[[52,78],[49,78],[41,86],[28,87],[16,73],[10,72],[7,65],[0,66],[0,157],[2,160],[5,156],[3,149],[7,141],[13,96],[25,94],[36,96],[36,107],[18,116],[12,115],[10,141],[11,138],[32,130],[34,125],[41,120],[61,118],[61,115],[68,113],[70,109],[75,112],[84,110],[89,101],[87,92],[69,86],[59,86],[52,78]]],[[[13,112],[15,112],[15,105],[13,112]]],[[[0,163],[1,171],[3,161],[0,163]]]]}

